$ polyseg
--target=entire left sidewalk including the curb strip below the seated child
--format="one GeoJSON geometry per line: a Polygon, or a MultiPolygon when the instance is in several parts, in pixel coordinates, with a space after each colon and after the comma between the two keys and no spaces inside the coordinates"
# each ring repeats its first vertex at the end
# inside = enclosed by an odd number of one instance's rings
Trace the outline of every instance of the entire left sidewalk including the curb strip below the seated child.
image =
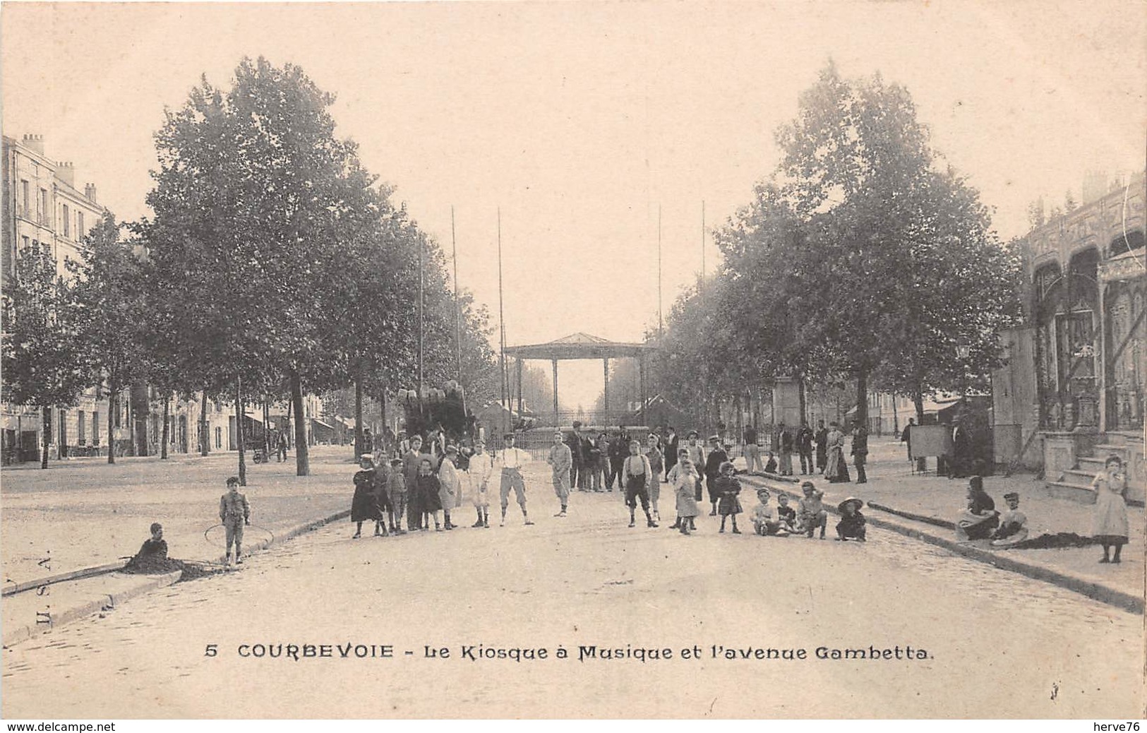
{"type": "MultiPolygon", "coordinates": [[[[294,460],[250,466],[243,492],[251,502],[252,527],[244,538],[244,554],[348,516],[350,476],[357,469],[349,459],[346,450],[320,449],[312,452],[311,476],[305,477],[295,476],[294,460]]],[[[204,530],[218,522],[221,478],[236,473],[236,460],[232,453],[5,470],[0,490],[5,585],[34,585],[84,568],[122,564],[119,557],[135,553],[153,521],[164,525],[172,557],[220,560],[223,532],[209,533],[213,540],[209,541],[204,530]],[[37,559],[39,547],[46,562],[37,559]]],[[[111,609],[178,579],[178,572],[107,572],[6,595],[0,601],[3,645],[111,609]]]]}

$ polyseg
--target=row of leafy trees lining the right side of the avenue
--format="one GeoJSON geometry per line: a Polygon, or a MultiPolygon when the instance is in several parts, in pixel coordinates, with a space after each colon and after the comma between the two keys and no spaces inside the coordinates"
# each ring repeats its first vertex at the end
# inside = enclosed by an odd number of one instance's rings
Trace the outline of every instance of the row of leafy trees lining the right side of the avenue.
{"type": "MultiPolygon", "coordinates": [[[[1020,259],[939,164],[908,92],[828,65],[777,133],[780,162],[715,233],[719,272],[674,303],[656,383],[708,412],[793,376],[911,397],[986,388],[1020,317],[1020,259]]],[[[712,414],[711,412],[709,414],[712,414]]]]}

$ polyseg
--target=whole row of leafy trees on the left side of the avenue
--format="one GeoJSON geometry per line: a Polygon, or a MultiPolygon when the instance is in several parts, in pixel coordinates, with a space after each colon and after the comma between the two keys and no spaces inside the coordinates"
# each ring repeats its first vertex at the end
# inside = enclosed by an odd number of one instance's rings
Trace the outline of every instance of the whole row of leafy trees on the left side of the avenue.
{"type": "MultiPolygon", "coordinates": [[[[155,135],[149,218],[106,216],[70,278],[46,252],[19,257],[5,398],[44,406],[46,436],[48,405],[96,383],[115,401],[139,379],[234,401],[240,434],[244,401],[290,399],[299,416],[304,389],[382,396],[414,387],[420,362],[428,384],[496,398],[489,313],[463,293],[455,317],[440,248],[335,135],[333,102],[264,59],[244,59],[229,89],[202,79],[155,135]]],[[[302,476],[306,426],[294,428],[302,476]]]]}

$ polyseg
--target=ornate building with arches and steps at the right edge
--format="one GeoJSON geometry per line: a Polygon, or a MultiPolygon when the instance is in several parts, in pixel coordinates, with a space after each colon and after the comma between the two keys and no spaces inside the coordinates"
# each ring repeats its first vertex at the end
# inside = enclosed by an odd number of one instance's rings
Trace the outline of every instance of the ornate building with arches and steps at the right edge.
{"type": "Polygon", "coordinates": [[[1111,453],[1130,467],[1129,498],[1144,499],[1145,200],[1140,173],[1020,242],[1028,322],[1007,335],[996,422],[1019,428],[1053,491],[1084,501],[1111,453]]]}

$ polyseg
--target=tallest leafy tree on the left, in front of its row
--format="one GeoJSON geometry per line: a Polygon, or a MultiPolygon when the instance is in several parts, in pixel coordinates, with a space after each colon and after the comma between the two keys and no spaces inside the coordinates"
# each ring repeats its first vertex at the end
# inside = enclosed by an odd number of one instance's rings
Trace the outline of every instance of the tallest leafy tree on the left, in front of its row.
{"type": "Polygon", "coordinates": [[[362,221],[379,215],[364,204],[373,180],[354,143],[335,137],[333,102],[298,67],[262,57],[244,59],[227,91],[203,79],[156,134],[148,195],[157,271],[190,283],[188,343],[204,348],[198,382],[234,396],[240,429],[244,393],[286,383],[298,475],[310,471],[303,381],[321,389],[338,372],[330,318],[362,221]]]}

